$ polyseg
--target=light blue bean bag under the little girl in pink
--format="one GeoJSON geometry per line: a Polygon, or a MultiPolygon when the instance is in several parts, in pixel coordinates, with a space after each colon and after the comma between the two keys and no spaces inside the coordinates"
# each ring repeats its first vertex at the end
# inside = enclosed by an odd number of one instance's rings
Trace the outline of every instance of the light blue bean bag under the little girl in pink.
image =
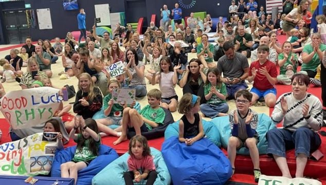
{"type": "MultiPolygon", "coordinates": [[[[154,156],[154,164],[157,172],[157,178],[154,184],[170,184],[171,176],[161,152],[151,147],[151,154],[154,156]]],[[[92,184],[125,184],[123,179],[123,172],[128,171],[128,157],[129,154],[125,153],[112,163],[108,164],[101,172],[99,172],[95,177],[93,177],[92,184]]],[[[141,181],[140,183],[135,184],[145,184],[145,182],[141,181]]]]}

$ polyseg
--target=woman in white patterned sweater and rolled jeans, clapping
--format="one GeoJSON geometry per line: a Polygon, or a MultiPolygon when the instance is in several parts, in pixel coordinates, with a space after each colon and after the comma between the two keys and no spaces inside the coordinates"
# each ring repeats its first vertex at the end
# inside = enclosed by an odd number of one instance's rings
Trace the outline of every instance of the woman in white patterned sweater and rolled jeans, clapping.
{"type": "Polygon", "coordinates": [[[292,92],[279,97],[271,114],[275,124],[283,121],[282,128],[267,132],[267,153],[273,155],[283,177],[292,178],[286,163],[286,150],[295,149],[295,177],[303,177],[310,154],[321,144],[318,131],[322,124],[320,100],[307,93],[309,77],[297,73],[292,77],[292,92]]]}

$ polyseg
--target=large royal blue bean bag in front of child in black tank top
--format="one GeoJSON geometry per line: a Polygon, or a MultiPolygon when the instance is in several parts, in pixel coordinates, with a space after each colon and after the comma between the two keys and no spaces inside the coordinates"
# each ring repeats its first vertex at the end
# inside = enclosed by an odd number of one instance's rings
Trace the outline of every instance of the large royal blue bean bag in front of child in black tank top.
{"type": "Polygon", "coordinates": [[[172,136],[162,144],[162,155],[173,184],[224,184],[232,175],[229,159],[205,138],[188,146],[172,136]]]}

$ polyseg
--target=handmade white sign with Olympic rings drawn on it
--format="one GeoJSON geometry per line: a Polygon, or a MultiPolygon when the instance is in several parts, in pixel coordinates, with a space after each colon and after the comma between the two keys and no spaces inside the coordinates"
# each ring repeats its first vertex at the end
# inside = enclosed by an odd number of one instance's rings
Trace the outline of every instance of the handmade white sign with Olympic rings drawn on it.
{"type": "Polygon", "coordinates": [[[55,156],[58,133],[37,133],[0,145],[0,175],[47,175],[55,156]]]}

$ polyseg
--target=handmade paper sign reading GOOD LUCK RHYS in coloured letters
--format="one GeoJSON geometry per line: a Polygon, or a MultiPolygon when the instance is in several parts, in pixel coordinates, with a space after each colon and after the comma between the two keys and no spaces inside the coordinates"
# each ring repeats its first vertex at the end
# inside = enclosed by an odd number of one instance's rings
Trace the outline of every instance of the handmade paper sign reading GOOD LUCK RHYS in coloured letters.
{"type": "Polygon", "coordinates": [[[1,112],[13,129],[38,125],[52,118],[62,97],[59,89],[38,87],[14,90],[1,100],[1,112]]]}

